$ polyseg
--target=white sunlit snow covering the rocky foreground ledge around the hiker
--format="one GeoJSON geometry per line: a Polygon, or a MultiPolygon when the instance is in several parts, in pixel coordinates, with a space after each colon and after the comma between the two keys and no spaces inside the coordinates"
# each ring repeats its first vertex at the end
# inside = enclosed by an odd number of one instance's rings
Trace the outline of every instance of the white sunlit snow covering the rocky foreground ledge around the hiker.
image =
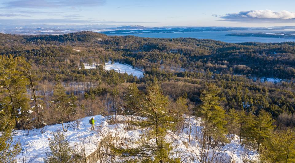
{"type": "MultiPolygon", "coordinates": [[[[90,118],[91,117],[85,117],[81,119],[79,129],[74,128],[70,129],[68,132],[64,132],[67,139],[69,140],[69,144],[72,146],[78,144],[77,148],[79,150],[85,149],[87,155],[96,150],[96,145],[102,138],[102,136],[97,132],[89,132],[91,128],[91,125],[89,125],[90,118]],[[83,140],[83,142],[85,142],[82,148],[81,146],[79,146],[80,140],[83,140]]],[[[97,115],[94,116],[94,118],[95,120],[97,120],[95,124],[96,130],[103,131],[101,133],[110,133],[112,134],[112,137],[120,137],[122,138],[122,140],[129,140],[125,142],[126,146],[135,147],[135,144],[132,144],[132,142],[135,142],[136,139],[140,138],[140,134],[142,134],[142,131],[140,129],[129,131],[125,130],[125,127],[127,126],[126,124],[109,125],[107,122],[109,117],[97,115]]],[[[144,119],[142,117],[135,116],[133,116],[133,118],[136,118],[137,120],[144,119]]],[[[124,120],[125,117],[118,116],[118,119],[124,120]]],[[[175,147],[174,151],[177,151],[179,153],[174,154],[172,157],[181,157],[183,161],[186,160],[185,162],[199,163],[199,161],[197,161],[196,159],[196,155],[199,154],[200,144],[195,138],[196,136],[200,139],[202,138],[202,135],[200,133],[201,128],[199,127],[200,119],[195,119],[195,117],[186,117],[186,123],[190,124],[188,126],[191,126],[190,139],[189,128],[185,128],[183,132],[181,132],[178,136],[171,131],[168,131],[168,134],[166,136],[167,141],[172,142],[172,145],[175,147]],[[188,143],[188,147],[184,145],[185,143],[188,143]],[[194,158],[194,161],[192,161],[191,158],[194,158]]],[[[14,132],[15,136],[13,138],[15,141],[20,140],[23,146],[25,145],[26,147],[28,147],[27,152],[24,153],[27,158],[26,161],[29,161],[29,158],[37,157],[35,160],[33,160],[33,162],[41,163],[44,162],[44,158],[46,157],[46,150],[49,150],[49,138],[53,139],[52,132],[56,131],[57,129],[61,129],[61,124],[46,126],[45,133],[43,134],[41,134],[38,129],[30,130],[29,134],[26,134],[26,131],[24,130],[16,130],[14,132]]],[[[240,163],[245,157],[248,157],[248,159],[250,160],[257,160],[258,156],[257,153],[254,151],[245,150],[244,146],[239,143],[239,137],[236,135],[234,135],[233,140],[231,140],[222,148],[221,152],[223,158],[226,159],[232,157],[236,161],[236,163],[240,163]]],[[[22,153],[17,156],[17,159],[19,163],[23,162],[22,153]]]]}

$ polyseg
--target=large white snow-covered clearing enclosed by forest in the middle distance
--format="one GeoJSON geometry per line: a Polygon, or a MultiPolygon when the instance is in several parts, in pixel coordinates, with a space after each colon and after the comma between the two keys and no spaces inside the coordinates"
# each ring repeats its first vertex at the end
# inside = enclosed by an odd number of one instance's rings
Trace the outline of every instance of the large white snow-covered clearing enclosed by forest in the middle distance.
{"type": "MultiPolygon", "coordinates": [[[[90,66],[89,64],[85,63],[85,69],[95,69],[97,64],[93,64],[90,66]]],[[[127,72],[128,75],[132,74],[133,76],[136,76],[137,78],[142,78],[144,76],[144,73],[140,70],[133,69],[132,66],[127,64],[121,64],[121,63],[114,63],[113,65],[111,62],[105,63],[104,66],[105,70],[115,70],[118,73],[125,73],[127,72]]]]}

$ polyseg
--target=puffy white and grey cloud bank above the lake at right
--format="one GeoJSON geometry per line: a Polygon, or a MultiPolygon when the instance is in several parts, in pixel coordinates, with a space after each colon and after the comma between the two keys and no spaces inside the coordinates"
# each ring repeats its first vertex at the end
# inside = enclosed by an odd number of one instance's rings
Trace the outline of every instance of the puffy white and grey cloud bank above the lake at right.
{"type": "MultiPolygon", "coordinates": [[[[215,15],[214,15],[215,16],[215,15]]],[[[290,11],[250,10],[221,16],[225,21],[295,22],[295,13],[290,11]]]]}

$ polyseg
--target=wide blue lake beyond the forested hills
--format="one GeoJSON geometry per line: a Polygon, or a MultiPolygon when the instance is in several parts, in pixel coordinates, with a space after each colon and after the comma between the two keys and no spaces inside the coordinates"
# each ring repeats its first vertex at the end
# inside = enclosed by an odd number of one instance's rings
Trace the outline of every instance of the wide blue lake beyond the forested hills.
{"type": "Polygon", "coordinates": [[[258,32],[288,32],[286,30],[231,30],[231,31],[208,31],[208,32],[174,32],[174,33],[148,33],[148,34],[108,34],[109,36],[117,35],[133,35],[145,38],[198,38],[198,39],[212,39],[223,42],[238,43],[238,42],[294,42],[295,39],[286,38],[263,38],[263,37],[238,37],[226,36],[226,34],[233,33],[258,33],[258,32]]]}

